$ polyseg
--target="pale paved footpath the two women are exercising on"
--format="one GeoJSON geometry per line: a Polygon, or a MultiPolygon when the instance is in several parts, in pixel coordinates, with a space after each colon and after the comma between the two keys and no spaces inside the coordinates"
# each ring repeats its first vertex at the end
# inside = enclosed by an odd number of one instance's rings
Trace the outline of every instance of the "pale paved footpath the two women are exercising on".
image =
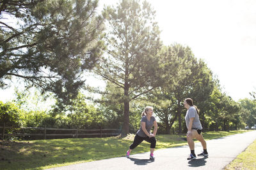
{"type": "MultiPolygon", "coordinates": [[[[175,148],[156,150],[155,160],[149,160],[149,152],[116,157],[112,159],[97,160],[65,167],[52,168],[63,169],[223,169],[239,153],[243,152],[256,139],[256,131],[244,132],[223,138],[206,141],[209,157],[197,157],[195,160],[187,160],[189,155],[188,145],[175,148]]],[[[148,145],[149,146],[149,145],[148,145]]],[[[195,143],[196,155],[202,151],[201,143],[195,143]]],[[[111,153],[109,153],[111,154],[111,153]]]]}

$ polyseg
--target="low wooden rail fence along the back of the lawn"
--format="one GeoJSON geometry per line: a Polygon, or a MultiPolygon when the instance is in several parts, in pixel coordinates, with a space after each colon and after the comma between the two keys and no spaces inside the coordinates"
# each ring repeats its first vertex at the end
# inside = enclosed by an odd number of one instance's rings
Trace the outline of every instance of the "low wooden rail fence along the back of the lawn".
{"type": "Polygon", "coordinates": [[[61,129],[61,128],[47,128],[44,127],[6,127],[0,126],[3,129],[1,132],[1,138],[16,137],[31,138],[37,136],[36,139],[58,139],[58,138],[92,138],[92,137],[108,137],[118,136],[120,129],[61,129]],[[8,129],[12,130],[11,132],[8,129]],[[31,132],[26,132],[31,131],[31,132]],[[34,133],[33,133],[34,132],[34,133]]]}

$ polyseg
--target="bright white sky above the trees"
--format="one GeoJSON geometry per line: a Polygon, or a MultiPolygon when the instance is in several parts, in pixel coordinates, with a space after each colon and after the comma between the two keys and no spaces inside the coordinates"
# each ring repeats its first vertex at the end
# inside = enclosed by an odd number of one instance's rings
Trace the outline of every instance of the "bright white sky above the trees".
{"type": "MultiPolygon", "coordinates": [[[[164,45],[188,45],[218,76],[235,101],[256,91],[255,0],[148,0],[156,10],[164,45]]],[[[103,4],[118,0],[100,0],[103,4]]],[[[12,98],[12,89],[0,90],[0,101],[12,98]]]]}

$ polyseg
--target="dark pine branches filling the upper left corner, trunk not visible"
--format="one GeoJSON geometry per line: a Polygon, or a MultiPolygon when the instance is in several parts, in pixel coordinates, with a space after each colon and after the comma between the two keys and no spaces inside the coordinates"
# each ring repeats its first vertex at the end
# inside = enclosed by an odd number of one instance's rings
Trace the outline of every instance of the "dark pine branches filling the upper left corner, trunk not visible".
{"type": "Polygon", "coordinates": [[[97,3],[1,0],[0,86],[15,76],[62,102],[76,97],[83,71],[95,66],[104,48],[97,3]]]}

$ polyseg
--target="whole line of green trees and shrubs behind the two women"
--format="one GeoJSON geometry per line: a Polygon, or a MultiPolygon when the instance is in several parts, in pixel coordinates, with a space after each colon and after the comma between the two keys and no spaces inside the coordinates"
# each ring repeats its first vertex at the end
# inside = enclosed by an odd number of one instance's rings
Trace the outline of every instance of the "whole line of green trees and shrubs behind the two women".
{"type": "Polygon", "coordinates": [[[27,88],[0,102],[0,125],[108,127],[128,134],[150,105],[160,133],[182,133],[187,97],[200,109],[204,131],[256,124],[255,92],[252,99],[234,101],[189,46],[163,45],[147,1],[123,0],[100,12],[98,1],[0,2],[0,87],[17,77],[27,88]],[[87,73],[100,76],[106,88],[86,86],[87,73]],[[30,87],[39,93],[29,94],[30,87]],[[31,96],[35,105],[45,98],[55,103],[49,110],[29,108],[31,96]]]}

